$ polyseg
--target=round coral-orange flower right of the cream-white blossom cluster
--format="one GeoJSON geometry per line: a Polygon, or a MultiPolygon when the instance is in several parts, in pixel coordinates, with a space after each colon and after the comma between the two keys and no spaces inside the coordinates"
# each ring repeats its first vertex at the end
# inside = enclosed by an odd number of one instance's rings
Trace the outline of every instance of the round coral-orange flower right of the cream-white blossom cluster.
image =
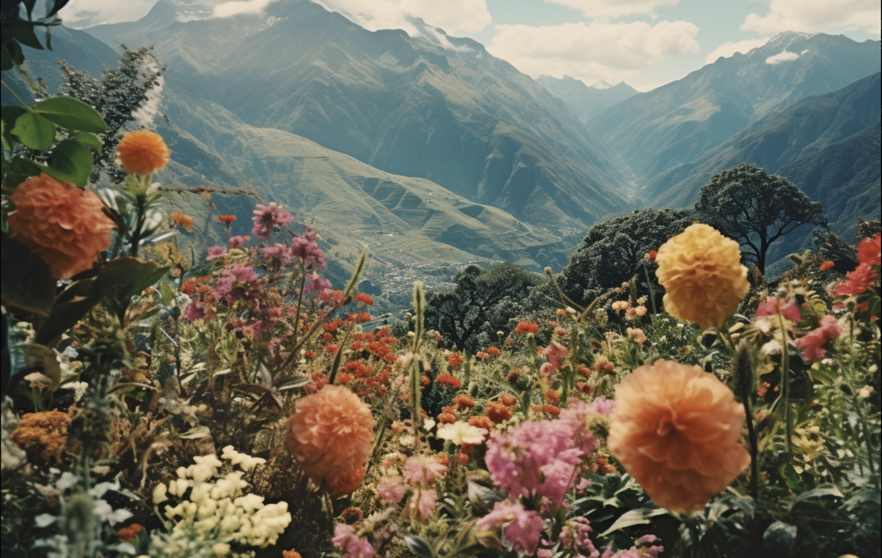
{"type": "Polygon", "coordinates": [[[310,479],[324,486],[336,480],[339,491],[370,458],[377,424],[370,408],[352,391],[331,384],[297,399],[295,407],[285,446],[310,479]]]}

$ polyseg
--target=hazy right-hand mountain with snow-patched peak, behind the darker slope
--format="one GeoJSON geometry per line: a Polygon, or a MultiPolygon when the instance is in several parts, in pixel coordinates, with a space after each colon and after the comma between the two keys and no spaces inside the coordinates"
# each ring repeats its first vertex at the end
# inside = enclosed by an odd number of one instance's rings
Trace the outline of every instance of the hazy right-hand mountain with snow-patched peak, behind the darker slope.
{"type": "Polygon", "coordinates": [[[781,33],[747,54],[718,58],[683,79],[605,110],[591,130],[643,181],[698,159],[763,116],[879,71],[880,41],[781,33]]]}

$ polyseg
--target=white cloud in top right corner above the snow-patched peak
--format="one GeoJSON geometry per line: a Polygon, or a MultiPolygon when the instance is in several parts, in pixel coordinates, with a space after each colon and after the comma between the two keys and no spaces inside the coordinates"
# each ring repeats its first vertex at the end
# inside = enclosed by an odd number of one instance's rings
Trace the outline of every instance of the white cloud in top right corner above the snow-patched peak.
{"type": "Polygon", "coordinates": [[[765,16],[751,13],[741,24],[743,31],[818,33],[845,27],[880,34],[882,5],[878,0],[771,0],[765,16]]]}

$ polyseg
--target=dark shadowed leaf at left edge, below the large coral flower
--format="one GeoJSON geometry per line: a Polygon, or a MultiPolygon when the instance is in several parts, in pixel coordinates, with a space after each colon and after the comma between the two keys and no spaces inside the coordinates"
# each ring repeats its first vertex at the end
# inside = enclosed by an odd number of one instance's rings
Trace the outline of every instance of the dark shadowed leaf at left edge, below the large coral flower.
{"type": "Polygon", "coordinates": [[[42,258],[2,233],[0,297],[7,309],[48,317],[56,298],[56,279],[42,258]]]}

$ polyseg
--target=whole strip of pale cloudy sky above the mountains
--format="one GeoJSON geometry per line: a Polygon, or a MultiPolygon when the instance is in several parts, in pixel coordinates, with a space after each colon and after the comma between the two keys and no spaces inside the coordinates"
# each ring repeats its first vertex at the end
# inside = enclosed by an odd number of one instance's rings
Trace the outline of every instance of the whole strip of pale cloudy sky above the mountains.
{"type": "MultiPolygon", "coordinates": [[[[176,0],[215,16],[286,0],[176,0]]],[[[317,0],[318,1],[318,0],[317,0]]],[[[71,26],[138,19],[156,0],[71,0],[71,26]]],[[[758,47],[775,33],[842,33],[879,39],[878,0],[320,0],[369,29],[409,30],[416,16],[482,42],[532,76],[587,85],[626,81],[641,91],[682,78],[718,56],[758,47]]]]}

